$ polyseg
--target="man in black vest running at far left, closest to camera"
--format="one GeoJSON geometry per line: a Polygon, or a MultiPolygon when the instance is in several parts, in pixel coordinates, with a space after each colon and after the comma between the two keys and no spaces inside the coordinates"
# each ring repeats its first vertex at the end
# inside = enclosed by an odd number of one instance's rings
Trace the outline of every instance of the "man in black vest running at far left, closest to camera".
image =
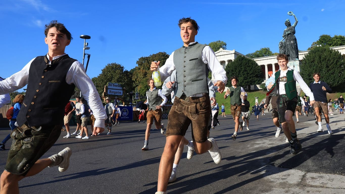
{"type": "Polygon", "coordinates": [[[99,94],[83,65],[65,53],[71,33],[56,20],[46,25],[48,53],[32,59],[22,70],[0,81],[0,95],[25,85],[27,92],[17,116],[19,127],[11,137],[5,170],[0,178],[0,193],[19,193],[18,182],[46,167],[59,166],[65,172],[72,154],[65,148],[49,158],[40,159],[61,134],[65,106],[77,86],[96,117],[95,126],[104,128],[106,113],[99,94]],[[91,99],[91,100],[89,100],[91,99]]]}

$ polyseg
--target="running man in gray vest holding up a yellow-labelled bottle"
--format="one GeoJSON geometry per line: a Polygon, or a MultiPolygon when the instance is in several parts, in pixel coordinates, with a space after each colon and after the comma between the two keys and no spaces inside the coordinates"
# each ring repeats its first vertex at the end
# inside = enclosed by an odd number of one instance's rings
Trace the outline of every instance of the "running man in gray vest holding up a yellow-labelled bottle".
{"type": "MultiPolygon", "coordinates": [[[[190,124],[195,152],[203,154],[208,151],[216,164],[221,161],[215,139],[207,139],[210,100],[215,101],[214,97],[208,95],[207,75],[211,70],[215,77],[213,84],[222,93],[227,81],[226,73],[213,50],[195,41],[199,30],[195,20],[182,18],[178,26],[183,47],[172,52],[159,69],[161,80],[165,80],[176,69],[177,88],[174,105],[168,115],[166,144],[160,159],[156,194],[166,193],[175,153],[190,124]]],[[[160,61],[151,62],[151,71],[156,70],[159,64],[160,61]]],[[[166,86],[170,88],[172,84],[170,81],[166,86]]]]}

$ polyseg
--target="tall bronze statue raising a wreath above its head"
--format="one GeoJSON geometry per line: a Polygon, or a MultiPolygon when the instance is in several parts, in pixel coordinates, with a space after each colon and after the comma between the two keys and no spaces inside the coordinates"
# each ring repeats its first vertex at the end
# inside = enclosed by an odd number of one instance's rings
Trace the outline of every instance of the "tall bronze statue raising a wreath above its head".
{"type": "Polygon", "coordinates": [[[291,26],[290,20],[285,21],[286,29],[283,33],[283,39],[279,42],[279,53],[284,53],[288,56],[289,61],[298,60],[298,46],[297,39],[295,37],[295,27],[298,20],[292,11],[287,12],[289,16],[295,17],[295,23],[291,26]]]}

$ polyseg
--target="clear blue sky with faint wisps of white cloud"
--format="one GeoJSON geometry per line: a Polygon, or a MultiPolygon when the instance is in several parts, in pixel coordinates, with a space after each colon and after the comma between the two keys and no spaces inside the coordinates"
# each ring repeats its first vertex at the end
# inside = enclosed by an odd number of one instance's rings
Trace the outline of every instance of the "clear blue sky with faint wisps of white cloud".
{"type": "MultiPolygon", "coordinates": [[[[91,54],[87,74],[97,77],[108,63],[130,70],[142,56],[181,47],[177,22],[191,17],[200,26],[196,41],[221,40],[227,50],[248,54],[263,47],[278,52],[284,22],[298,18],[299,50],[306,50],[322,34],[345,35],[342,18],[345,1],[41,1],[1,0],[0,76],[9,77],[32,58],[45,55],[44,25],[64,23],[73,40],[66,47],[70,57],[82,61],[83,39],[91,54]],[[286,2],[286,3],[285,3],[286,2]]],[[[86,62],[85,62],[86,64],[86,62]]]]}

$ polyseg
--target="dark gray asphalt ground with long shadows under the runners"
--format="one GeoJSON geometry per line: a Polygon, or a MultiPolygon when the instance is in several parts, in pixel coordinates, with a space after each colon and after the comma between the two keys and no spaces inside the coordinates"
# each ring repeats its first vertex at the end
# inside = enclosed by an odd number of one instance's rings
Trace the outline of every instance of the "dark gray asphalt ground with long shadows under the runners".
{"type": "MultiPolygon", "coordinates": [[[[250,118],[249,128],[231,139],[234,121],[231,115],[218,117],[220,126],[211,129],[220,148],[222,161],[215,164],[204,153],[186,158],[187,147],[177,168],[177,180],[168,185],[168,193],[345,193],[344,129],[345,114],[330,115],[334,134],[317,133],[312,116],[300,116],[296,123],[302,151],[289,155],[289,145],[276,127],[270,113],[250,118]]],[[[294,117],[295,119],[295,117],[294,117]]],[[[167,126],[167,119],[162,120],[167,126]]],[[[158,166],[165,145],[159,130],[151,130],[149,151],[144,145],[146,123],[123,122],[112,127],[112,135],[89,139],[62,138],[42,157],[56,154],[65,147],[72,149],[70,166],[64,173],[57,167],[19,182],[21,194],[56,193],[155,193],[158,166]]],[[[73,132],[75,127],[71,127],[73,132]]],[[[0,139],[10,132],[0,130],[0,139]]],[[[191,129],[186,133],[191,139],[191,129]]],[[[8,148],[0,151],[0,168],[6,164],[8,148]]]]}

